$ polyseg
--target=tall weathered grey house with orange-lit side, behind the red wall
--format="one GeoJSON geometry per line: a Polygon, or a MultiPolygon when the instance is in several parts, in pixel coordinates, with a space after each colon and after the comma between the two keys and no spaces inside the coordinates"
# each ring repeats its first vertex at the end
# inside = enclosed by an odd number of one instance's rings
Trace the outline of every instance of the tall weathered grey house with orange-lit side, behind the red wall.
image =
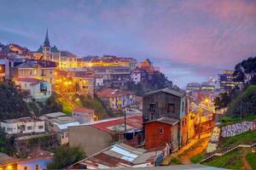
{"type": "MultiPolygon", "coordinates": [[[[170,88],[143,94],[143,122],[154,122],[162,117],[178,120],[178,146],[189,142],[189,98],[170,88]]],[[[145,137],[148,136],[145,131],[145,137]]],[[[146,139],[147,140],[147,139],[146,139]]]]}

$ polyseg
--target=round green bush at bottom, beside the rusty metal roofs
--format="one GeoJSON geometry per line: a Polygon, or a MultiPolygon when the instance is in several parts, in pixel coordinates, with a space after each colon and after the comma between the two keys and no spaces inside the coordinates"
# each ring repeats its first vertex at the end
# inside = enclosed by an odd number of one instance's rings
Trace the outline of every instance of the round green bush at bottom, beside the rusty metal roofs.
{"type": "Polygon", "coordinates": [[[63,169],[84,159],[84,150],[79,147],[61,145],[55,150],[55,156],[47,165],[47,169],[63,169]]]}

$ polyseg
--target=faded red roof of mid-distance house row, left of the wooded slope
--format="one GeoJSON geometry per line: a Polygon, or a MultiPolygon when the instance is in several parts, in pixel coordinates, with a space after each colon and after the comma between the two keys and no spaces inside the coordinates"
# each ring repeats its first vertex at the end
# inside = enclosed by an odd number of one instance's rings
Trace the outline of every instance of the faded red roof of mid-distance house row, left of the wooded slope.
{"type": "Polygon", "coordinates": [[[135,94],[135,93],[127,90],[113,89],[113,88],[104,88],[98,93],[96,93],[96,95],[99,96],[100,98],[111,98],[111,97],[118,97],[118,96],[131,95],[131,94],[135,94]]]}

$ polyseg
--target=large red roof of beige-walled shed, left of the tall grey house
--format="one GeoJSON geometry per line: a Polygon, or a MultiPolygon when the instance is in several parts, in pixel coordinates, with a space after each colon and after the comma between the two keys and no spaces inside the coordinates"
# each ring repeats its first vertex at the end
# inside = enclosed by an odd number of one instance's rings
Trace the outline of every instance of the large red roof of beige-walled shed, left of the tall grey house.
{"type": "MultiPolygon", "coordinates": [[[[106,131],[108,133],[112,133],[114,129],[112,129],[113,126],[118,126],[125,123],[125,118],[117,117],[110,120],[104,120],[100,122],[96,122],[91,124],[90,126],[102,129],[103,131],[106,131]]],[[[140,128],[143,124],[143,116],[126,116],[126,125],[127,127],[131,128],[140,128]]],[[[127,129],[131,130],[131,129],[127,129]]]]}

